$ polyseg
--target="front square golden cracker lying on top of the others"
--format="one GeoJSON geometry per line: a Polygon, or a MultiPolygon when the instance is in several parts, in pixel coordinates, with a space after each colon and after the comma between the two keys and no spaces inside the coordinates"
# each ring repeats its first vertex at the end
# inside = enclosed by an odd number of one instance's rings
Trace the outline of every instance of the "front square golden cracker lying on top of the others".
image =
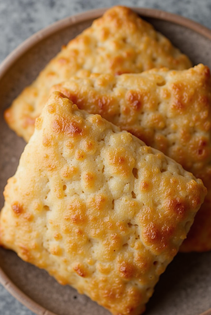
{"type": "Polygon", "coordinates": [[[0,241],[113,314],[139,314],[205,193],[175,161],[54,92],[5,187],[0,241]]]}

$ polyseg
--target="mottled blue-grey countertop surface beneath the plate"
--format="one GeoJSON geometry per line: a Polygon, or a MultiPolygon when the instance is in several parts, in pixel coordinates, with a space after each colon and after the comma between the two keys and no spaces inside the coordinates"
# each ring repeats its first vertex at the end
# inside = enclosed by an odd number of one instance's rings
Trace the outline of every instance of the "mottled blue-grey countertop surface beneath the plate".
{"type": "MultiPolygon", "coordinates": [[[[36,31],[66,16],[122,4],[183,15],[211,28],[210,0],[0,0],[0,62],[36,31]]],[[[0,285],[0,315],[33,315],[0,285]]]]}

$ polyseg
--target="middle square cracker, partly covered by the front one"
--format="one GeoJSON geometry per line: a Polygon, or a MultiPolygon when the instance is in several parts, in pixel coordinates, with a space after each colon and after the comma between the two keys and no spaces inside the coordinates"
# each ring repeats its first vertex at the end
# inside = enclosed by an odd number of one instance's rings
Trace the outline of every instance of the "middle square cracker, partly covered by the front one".
{"type": "Polygon", "coordinates": [[[211,249],[211,76],[199,64],[183,71],[92,74],[55,85],[77,106],[100,114],[162,151],[203,180],[208,189],[180,250],[211,249]]]}

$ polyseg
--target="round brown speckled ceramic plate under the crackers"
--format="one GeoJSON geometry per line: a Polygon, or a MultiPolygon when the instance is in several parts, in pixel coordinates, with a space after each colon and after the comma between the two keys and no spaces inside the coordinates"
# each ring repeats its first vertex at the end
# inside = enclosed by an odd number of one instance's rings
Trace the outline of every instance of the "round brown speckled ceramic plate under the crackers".
{"type": "MultiPolygon", "coordinates": [[[[134,9],[187,54],[194,64],[211,67],[211,31],[154,9],[134,9]]],[[[0,67],[0,206],[3,187],[14,174],[25,146],[3,121],[3,110],[32,82],[45,64],[71,38],[90,26],[105,10],[92,10],[58,21],[36,33],[6,58],[0,67]]],[[[161,276],[147,305],[146,315],[211,315],[211,252],[178,254],[161,276]]],[[[0,249],[0,281],[19,301],[38,315],[108,315],[109,312],[59,285],[47,272],[0,249]]]]}

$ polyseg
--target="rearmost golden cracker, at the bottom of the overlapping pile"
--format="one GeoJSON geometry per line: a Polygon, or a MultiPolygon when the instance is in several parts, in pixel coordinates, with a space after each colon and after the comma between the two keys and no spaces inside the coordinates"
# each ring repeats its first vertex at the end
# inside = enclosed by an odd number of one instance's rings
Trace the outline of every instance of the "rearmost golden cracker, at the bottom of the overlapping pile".
{"type": "Polygon", "coordinates": [[[186,69],[190,60],[153,26],[125,7],[114,7],[71,40],[5,113],[9,126],[29,140],[52,85],[92,72],[142,72],[153,67],[186,69]]]}

